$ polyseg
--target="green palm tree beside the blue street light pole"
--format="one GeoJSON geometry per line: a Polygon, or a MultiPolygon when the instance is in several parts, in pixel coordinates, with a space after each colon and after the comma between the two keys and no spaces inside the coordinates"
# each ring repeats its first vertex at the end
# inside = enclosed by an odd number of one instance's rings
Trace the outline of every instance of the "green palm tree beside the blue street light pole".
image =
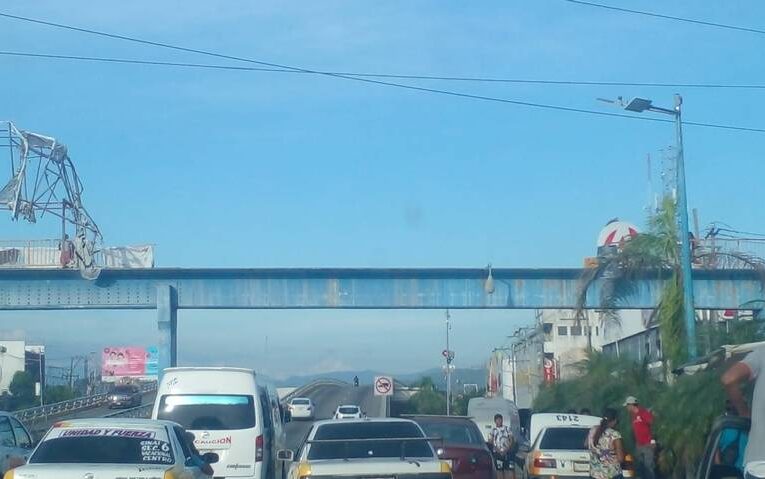
{"type": "MultiPolygon", "coordinates": [[[[626,242],[618,251],[599,258],[595,268],[588,269],[581,281],[578,317],[587,299],[587,292],[596,280],[602,280],[601,327],[618,324],[618,309],[622,300],[634,292],[639,276],[654,274],[665,279],[653,318],[659,325],[663,357],[672,364],[688,359],[688,338],[683,320],[683,285],[680,275],[679,235],[675,201],[665,197],[660,208],[648,219],[648,231],[626,242]]],[[[704,261],[714,255],[714,263],[725,268],[754,268],[760,272],[765,285],[765,262],[751,255],[736,252],[711,251],[696,255],[704,261]]]]}

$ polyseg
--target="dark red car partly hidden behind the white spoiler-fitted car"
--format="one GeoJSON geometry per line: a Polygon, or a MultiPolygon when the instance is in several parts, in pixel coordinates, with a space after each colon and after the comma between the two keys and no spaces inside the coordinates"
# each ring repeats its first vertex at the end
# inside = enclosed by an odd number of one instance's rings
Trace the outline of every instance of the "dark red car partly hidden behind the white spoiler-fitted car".
{"type": "Polygon", "coordinates": [[[443,439],[433,447],[438,457],[451,462],[454,479],[494,479],[491,451],[473,421],[464,416],[409,416],[428,437],[443,439]]]}

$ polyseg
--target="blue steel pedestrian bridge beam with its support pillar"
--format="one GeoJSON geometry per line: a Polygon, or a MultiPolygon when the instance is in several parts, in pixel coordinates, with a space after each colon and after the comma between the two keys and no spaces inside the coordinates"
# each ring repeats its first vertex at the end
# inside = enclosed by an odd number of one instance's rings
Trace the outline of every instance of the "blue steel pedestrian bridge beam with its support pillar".
{"type": "MultiPolygon", "coordinates": [[[[572,309],[581,269],[114,269],[95,280],[78,271],[0,270],[0,310],[155,309],[159,367],[176,364],[179,309],[572,309]]],[[[631,280],[625,309],[658,303],[667,272],[631,280]]],[[[604,280],[584,307],[601,305],[604,280]]],[[[759,309],[765,289],[754,270],[697,270],[698,309],[759,309]],[[757,306],[759,305],[759,306],[757,306]]]]}

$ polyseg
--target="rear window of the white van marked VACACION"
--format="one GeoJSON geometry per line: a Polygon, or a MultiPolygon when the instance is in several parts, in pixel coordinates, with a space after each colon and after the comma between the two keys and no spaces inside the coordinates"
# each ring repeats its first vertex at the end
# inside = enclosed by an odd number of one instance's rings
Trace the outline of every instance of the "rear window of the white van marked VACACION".
{"type": "Polygon", "coordinates": [[[192,431],[251,429],[255,427],[255,402],[244,395],[167,395],[162,396],[157,417],[192,431]]]}

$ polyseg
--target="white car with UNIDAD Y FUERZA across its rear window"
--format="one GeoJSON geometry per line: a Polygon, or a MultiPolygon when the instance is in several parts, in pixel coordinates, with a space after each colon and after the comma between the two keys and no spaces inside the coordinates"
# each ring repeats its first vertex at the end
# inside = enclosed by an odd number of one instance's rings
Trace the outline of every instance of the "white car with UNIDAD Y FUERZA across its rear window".
{"type": "Polygon", "coordinates": [[[29,462],[5,479],[209,479],[217,455],[199,456],[186,431],[169,421],[74,419],[54,424],[29,462]]]}

